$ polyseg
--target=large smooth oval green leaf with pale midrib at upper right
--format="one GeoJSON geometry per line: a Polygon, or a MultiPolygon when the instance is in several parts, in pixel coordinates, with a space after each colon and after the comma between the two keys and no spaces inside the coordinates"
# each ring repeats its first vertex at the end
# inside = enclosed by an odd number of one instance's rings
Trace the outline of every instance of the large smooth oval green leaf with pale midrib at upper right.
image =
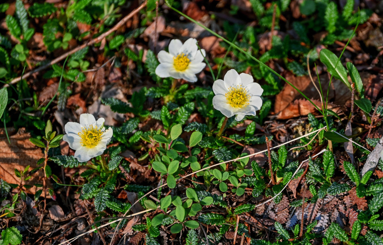
{"type": "Polygon", "coordinates": [[[337,62],[338,57],[328,49],[321,49],[319,57],[322,63],[327,66],[327,71],[342,81],[351,90],[351,85],[347,79],[347,71],[344,66],[342,66],[342,62],[337,62]],[[336,67],[335,64],[337,64],[336,67]]]}

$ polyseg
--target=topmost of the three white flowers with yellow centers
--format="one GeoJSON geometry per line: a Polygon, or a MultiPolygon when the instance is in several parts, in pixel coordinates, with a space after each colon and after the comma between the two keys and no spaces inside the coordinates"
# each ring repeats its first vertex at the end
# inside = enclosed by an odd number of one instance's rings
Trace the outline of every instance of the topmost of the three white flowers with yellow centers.
{"type": "Polygon", "coordinates": [[[202,62],[204,56],[205,50],[198,49],[195,38],[187,39],[184,44],[178,39],[173,39],[169,43],[169,53],[164,50],[158,53],[160,64],[155,68],[155,74],[159,77],[182,78],[188,82],[196,82],[195,74],[206,66],[202,62]]]}

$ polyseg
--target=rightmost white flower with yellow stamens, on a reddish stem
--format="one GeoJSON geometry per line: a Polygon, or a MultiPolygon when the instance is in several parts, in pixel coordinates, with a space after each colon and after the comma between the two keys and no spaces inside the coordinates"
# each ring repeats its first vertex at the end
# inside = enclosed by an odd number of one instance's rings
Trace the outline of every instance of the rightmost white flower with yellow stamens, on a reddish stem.
{"type": "Polygon", "coordinates": [[[245,115],[255,115],[262,106],[263,89],[246,73],[238,74],[231,69],[225,77],[213,84],[213,106],[226,117],[236,115],[241,121],[245,115]]]}

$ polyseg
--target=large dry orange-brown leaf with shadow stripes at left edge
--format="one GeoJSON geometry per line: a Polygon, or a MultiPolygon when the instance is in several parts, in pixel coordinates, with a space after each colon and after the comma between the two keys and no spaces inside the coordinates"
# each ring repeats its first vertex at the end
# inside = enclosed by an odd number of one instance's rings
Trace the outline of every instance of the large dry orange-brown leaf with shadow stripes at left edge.
{"type": "MultiPolygon", "coordinates": [[[[0,179],[10,184],[20,184],[20,179],[15,176],[15,168],[21,172],[28,165],[30,166],[29,171],[37,167],[36,163],[43,157],[43,153],[40,148],[29,141],[29,138],[31,135],[25,132],[25,128],[20,128],[15,135],[9,137],[11,141],[9,144],[5,132],[0,132],[0,179]]],[[[43,178],[43,169],[39,169],[23,184],[31,186],[36,183],[43,184],[43,178]]],[[[37,190],[38,188],[33,186],[26,189],[26,192],[34,194],[37,190]]]]}

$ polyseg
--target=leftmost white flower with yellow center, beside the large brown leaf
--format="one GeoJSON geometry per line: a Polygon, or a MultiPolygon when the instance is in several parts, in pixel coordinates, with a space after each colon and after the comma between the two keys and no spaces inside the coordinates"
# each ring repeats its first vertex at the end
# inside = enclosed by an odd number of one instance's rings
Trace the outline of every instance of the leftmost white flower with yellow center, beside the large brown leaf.
{"type": "Polygon", "coordinates": [[[68,122],[65,124],[65,133],[62,137],[69,147],[75,150],[74,157],[80,162],[86,162],[95,156],[104,153],[106,145],[113,136],[112,128],[105,130],[104,118],[96,121],[92,114],[80,115],[80,123],[68,122]]]}

